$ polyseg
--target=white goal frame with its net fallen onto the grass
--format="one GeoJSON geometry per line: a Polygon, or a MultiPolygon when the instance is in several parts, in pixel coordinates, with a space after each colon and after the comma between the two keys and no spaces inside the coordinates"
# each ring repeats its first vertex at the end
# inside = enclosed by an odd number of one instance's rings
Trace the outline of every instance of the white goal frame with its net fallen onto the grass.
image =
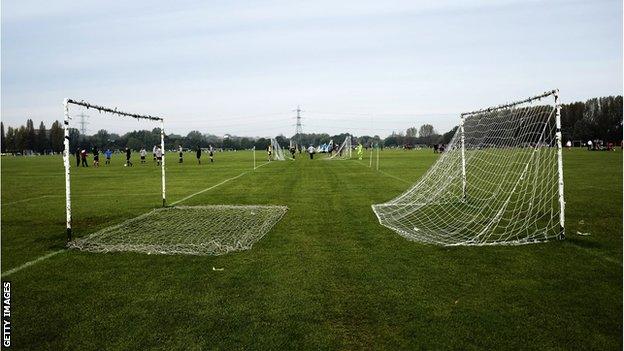
{"type": "Polygon", "coordinates": [[[122,117],[130,117],[137,120],[151,120],[160,123],[160,148],[163,152],[163,158],[161,162],[161,184],[162,184],[162,206],[164,207],[167,202],[166,198],[166,188],[165,188],[165,122],[161,117],[154,117],[150,115],[140,115],[136,113],[128,113],[119,111],[117,108],[109,108],[105,106],[94,105],[85,101],[77,101],[73,99],[65,99],[63,101],[63,109],[65,111],[65,118],[63,121],[63,129],[64,129],[64,150],[63,150],[63,165],[65,168],[65,213],[66,213],[66,231],[67,231],[67,241],[72,241],[72,210],[71,210],[71,181],[70,181],[70,145],[69,145],[69,130],[71,128],[70,121],[72,120],[72,116],[69,113],[69,106],[81,106],[86,109],[93,109],[100,113],[108,113],[112,115],[122,116],[122,117]]]}

